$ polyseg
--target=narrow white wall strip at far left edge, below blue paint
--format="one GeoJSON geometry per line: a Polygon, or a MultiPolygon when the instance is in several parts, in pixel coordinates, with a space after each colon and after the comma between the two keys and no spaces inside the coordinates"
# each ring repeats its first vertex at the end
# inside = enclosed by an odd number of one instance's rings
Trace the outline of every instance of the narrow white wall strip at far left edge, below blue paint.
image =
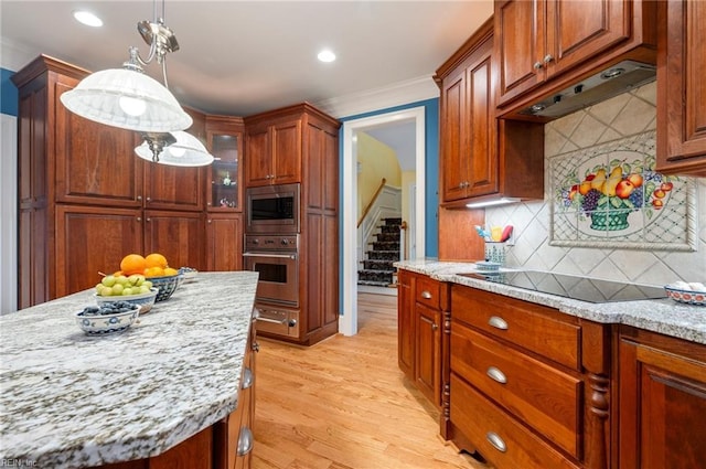
{"type": "Polygon", "coordinates": [[[17,310],[17,117],[0,114],[0,313],[17,310]]]}

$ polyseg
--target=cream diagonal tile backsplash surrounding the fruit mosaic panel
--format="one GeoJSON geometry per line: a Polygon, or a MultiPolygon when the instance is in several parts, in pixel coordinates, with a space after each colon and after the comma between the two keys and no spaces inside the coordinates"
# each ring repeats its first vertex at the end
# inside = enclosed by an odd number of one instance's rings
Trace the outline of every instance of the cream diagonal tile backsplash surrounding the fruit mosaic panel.
{"type": "MultiPolygon", "coordinates": [[[[656,127],[656,84],[635,88],[545,126],[546,159],[656,127]]],[[[514,246],[505,265],[609,280],[664,285],[675,280],[706,281],[706,179],[696,185],[695,252],[632,248],[563,247],[549,245],[550,183],[545,171],[544,201],[486,209],[486,225],[515,227],[514,246]]]]}

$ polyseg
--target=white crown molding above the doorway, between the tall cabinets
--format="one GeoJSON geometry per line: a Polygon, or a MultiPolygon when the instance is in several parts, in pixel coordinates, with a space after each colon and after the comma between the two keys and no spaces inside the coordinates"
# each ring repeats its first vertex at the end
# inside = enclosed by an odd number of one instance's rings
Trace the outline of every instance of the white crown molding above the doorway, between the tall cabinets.
{"type": "Polygon", "coordinates": [[[333,97],[315,103],[314,106],[335,117],[357,116],[379,109],[387,109],[409,103],[439,97],[439,87],[432,74],[397,82],[379,88],[333,97]]]}

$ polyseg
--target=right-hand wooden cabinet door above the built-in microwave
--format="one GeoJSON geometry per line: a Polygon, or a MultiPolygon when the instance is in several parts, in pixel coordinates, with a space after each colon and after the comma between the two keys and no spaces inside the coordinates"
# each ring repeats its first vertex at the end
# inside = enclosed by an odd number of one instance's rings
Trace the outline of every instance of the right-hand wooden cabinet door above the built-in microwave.
{"type": "Polygon", "coordinates": [[[275,184],[301,181],[301,119],[279,122],[270,128],[275,184]]]}

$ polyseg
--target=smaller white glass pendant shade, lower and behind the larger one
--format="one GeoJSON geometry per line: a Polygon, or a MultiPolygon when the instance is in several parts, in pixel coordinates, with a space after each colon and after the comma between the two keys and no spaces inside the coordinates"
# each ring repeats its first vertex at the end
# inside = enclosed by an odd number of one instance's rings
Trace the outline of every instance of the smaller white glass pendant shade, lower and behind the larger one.
{"type": "Polygon", "coordinates": [[[176,167],[203,167],[214,160],[206,147],[185,131],[174,131],[167,136],[146,135],[145,139],[135,149],[135,153],[143,160],[176,167]],[[169,145],[170,141],[174,142],[169,145]]]}

